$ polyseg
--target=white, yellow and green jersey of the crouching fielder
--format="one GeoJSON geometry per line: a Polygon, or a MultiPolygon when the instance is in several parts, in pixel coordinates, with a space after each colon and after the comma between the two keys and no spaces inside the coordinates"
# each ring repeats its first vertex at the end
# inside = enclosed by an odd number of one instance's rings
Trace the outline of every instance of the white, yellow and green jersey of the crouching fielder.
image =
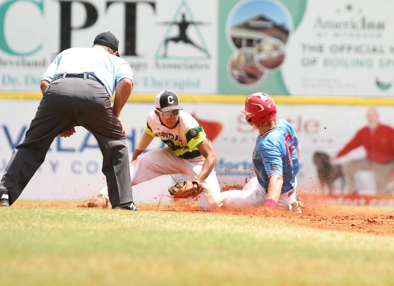
{"type": "Polygon", "coordinates": [[[204,130],[186,112],[180,111],[178,118],[178,123],[173,128],[167,128],[160,122],[155,110],[152,110],[148,114],[145,131],[152,137],[160,137],[179,158],[193,159],[200,156],[197,145],[206,138],[204,130]]]}

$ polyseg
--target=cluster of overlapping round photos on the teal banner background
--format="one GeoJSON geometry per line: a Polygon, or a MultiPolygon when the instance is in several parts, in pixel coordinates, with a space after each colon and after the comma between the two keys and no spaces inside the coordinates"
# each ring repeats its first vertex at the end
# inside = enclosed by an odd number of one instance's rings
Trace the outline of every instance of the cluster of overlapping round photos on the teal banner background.
{"type": "Polygon", "coordinates": [[[285,8],[266,0],[237,6],[230,17],[229,42],[233,48],[229,72],[239,84],[261,83],[271,69],[280,67],[290,34],[285,8]]]}

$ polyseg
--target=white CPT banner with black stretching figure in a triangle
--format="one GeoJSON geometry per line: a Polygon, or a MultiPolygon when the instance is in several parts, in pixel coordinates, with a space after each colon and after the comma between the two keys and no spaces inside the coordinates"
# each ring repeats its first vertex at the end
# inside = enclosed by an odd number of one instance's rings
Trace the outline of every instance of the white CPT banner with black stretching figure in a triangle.
{"type": "Polygon", "coordinates": [[[216,93],[217,3],[0,0],[0,91],[39,91],[58,53],[91,47],[109,30],[131,64],[135,92],[216,93]]]}

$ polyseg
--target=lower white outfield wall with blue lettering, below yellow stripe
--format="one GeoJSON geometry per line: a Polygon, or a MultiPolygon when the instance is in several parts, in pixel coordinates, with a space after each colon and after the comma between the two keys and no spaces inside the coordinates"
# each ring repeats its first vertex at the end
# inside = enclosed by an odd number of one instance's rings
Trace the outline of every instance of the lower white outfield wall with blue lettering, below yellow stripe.
{"type": "MultiPolygon", "coordinates": [[[[122,119],[127,126],[130,156],[144,129],[146,115],[153,106],[153,95],[146,98],[152,98],[152,101],[129,102],[122,111],[122,119]]],[[[211,97],[213,98],[215,97],[211,97]]],[[[221,185],[243,184],[250,174],[253,175],[251,156],[257,133],[246,124],[240,113],[244,96],[239,96],[239,102],[233,103],[221,102],[222,96],[216,98],[216,103],[204,103],[198,102],[197,96],[193,97],[195,102],[191,102],[191,97],[181,95],[181,102],[184,110],[197,118],[212,140],[218,156],[216,172],[221,185]]],[[[274,98],[279,116],[293,124],[302,146],[299,187],[305,190],[319,189],[317,171],[313,164],[314,152],[326,152],[331,156],[347,143],[366,124],[366,111],[370,108],[369,104],[365,104],[368,99],[363,99],[365,102],[354,99],[352,105],[346,105],[332,104],[335,100],[341,102],[346,98],[332,98],[330,104],[306,104],[299,99],[298,102],[296,99],[294,101],[297,104],[290,104],[286,102],[289,97],[274,98]]],[[[386,100],[381,101],[382,105],[379,105],[379,100],[374,102],[381,121],[393,125],[393,104],[388,104],[386,100]]],[[[37,99],[0,100],[0,173],[4,171],[13,147],[22,142],[38,104],[37,99]]],[[[81,199],[105,185],[104,176],[100,172],[102,158],[95,138],[83,128],[77,127],[76,130],[77,133],[70,138],[56,138],[45,162],[34,175],[22,198],[81,199]]],[[[162,146],[163,143],[155,139],[149,149],[162,146]]],[[[363,155],[364,151],[360,148],[338,163],[363,155]]],[[[136,200],[156,201],[160,193],[165,193],[164,186],[171,182],[171,178],[163,177],[135,187],[136,200]],[[147,190],[149,194],[144,193],[147,190]]],[[[371,174],[359,173],[358,182],[362,193],[374,192],[371,174]]],[[[340,182],[336,182],[335,187],[339,190],[340,182]]]]}

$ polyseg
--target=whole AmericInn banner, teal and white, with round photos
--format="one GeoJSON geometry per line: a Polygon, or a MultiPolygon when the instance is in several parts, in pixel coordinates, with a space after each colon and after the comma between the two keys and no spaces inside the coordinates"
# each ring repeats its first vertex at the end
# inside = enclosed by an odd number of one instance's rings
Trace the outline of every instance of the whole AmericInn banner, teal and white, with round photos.
{"type": "Polygon", "coordinates": [[[393,96],[394,2],[221,0],[218,93],[393,96]]]}

